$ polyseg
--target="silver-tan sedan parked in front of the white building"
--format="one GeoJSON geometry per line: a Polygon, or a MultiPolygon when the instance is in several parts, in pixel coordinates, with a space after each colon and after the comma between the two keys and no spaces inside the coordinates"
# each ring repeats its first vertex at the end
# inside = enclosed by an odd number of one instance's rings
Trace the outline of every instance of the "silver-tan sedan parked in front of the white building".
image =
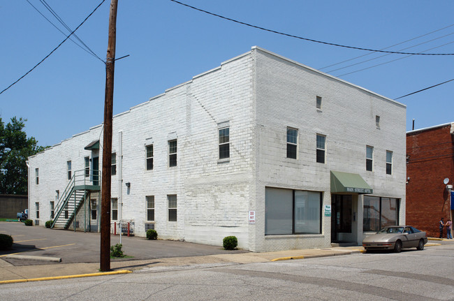
{"type": "Polygon", "coordinates": [[[368,250],[394,250],[399,253],[402,249],[424,249],[427,244],[427,234],[412,226],[388,226],[374,235],[363,240],[363,247],[368,250]]]}

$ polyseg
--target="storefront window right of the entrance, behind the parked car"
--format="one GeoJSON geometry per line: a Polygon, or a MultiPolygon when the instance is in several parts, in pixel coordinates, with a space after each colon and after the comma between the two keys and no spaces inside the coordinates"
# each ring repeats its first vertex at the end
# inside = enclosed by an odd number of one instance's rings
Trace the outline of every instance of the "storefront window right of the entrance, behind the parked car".
{"type": "Polygon", "coordinates": [[[365,196],[363,207],[363,230],[378,231],[384,226],[399,224],[399,199],[365,196]]]}

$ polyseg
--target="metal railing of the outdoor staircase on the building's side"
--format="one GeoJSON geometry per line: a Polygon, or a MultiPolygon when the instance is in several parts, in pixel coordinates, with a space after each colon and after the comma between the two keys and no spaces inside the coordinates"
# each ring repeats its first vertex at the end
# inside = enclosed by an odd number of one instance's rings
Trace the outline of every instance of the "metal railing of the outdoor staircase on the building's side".
{"type": "MultiPolygon", "coordinates": [[[[68,210],[68,202],[71,199],[71,196],[75,193],[75,189],[77,186],[99,186],[101,183],[101,174],[99,170],[75,170],[73,177],[68,182],[68,185],[66,185],[66,188],[64,192],[61,194],[61,197],[57,201],[57,205],[55,206],[54,212],[54,220],[52,221],[52,225],[50,228],[54,228],[55,223],[57,223],[60,215],[64,210],[68,210]]],[[[99,189],[97,189],[99,190],[99,189]]],[[[86,194],[83,196],[83,201],[85,201],[85,198],[87,197],[86,194]]],[[[71,208],[72,209],[72,208],[71,208]]],[[[71,217],[68,218],[68,220],[73,219],[77,212],[78,208],[74,208],[73,214],[71,214],[71,217]]]]}

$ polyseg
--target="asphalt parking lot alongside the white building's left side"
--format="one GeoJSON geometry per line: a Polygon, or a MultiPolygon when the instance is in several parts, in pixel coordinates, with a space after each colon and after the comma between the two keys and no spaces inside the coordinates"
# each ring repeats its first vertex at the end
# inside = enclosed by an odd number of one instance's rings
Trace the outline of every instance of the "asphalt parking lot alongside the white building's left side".
{"type": "MultiPolygon", "coordinates": [[[[38,260],[6,259],[9,254],[61,258],[61,263],[98,263],[100,233],[47,229],[25,226],[19,222],[0,222],[0,233],[13,237],[13,248],[0,251],[0,258],[15,266],[50,264],[38,260]]],[[[219,238],[220,240],[222,237],[219,238]]],[[[110,245],[120,242],[119,235],[110,236],[110,245]]],[[[145,237],[122,236],[122,250],[127,258],[111,261],[150,260],[156,258],[207,256],[216,254],[247,253],[244,250],[226,251],[222,247],[170,240],[147,240],[145,237]]]]}

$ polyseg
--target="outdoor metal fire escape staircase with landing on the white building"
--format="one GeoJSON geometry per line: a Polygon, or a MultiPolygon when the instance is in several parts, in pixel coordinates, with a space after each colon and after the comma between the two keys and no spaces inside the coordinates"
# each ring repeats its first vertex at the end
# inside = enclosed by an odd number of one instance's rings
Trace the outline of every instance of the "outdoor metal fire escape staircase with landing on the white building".
{"type": "Polygon", "coordinates": [[[54,219],[50,228],[71,226],[82,205],[89,200],[90,193],[101,191],[98,170],[77,170],[54,207],[54,219]]]}

